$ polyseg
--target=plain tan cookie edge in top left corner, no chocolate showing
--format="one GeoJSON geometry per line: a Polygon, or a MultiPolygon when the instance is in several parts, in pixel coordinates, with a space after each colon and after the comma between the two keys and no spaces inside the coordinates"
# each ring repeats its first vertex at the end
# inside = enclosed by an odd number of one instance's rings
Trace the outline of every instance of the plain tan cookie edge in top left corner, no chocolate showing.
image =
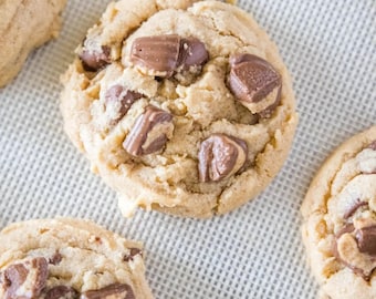
{"type": "Polygon", "coordinates": [[[21,70],[29,53],[56,38],[66,0],[0,1],[0,87],[21,70]]]}

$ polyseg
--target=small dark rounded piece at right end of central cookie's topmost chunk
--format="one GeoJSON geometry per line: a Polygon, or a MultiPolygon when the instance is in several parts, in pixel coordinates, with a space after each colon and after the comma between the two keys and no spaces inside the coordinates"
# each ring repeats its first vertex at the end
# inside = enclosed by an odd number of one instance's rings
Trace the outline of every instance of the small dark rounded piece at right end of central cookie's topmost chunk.
{"type": "Polygon", "coordinates": [[[179,66],[189,70],[191,66],[203,65],[208,60],[209,53],[200,40],[196,38],[181,39],[179,66]]]}

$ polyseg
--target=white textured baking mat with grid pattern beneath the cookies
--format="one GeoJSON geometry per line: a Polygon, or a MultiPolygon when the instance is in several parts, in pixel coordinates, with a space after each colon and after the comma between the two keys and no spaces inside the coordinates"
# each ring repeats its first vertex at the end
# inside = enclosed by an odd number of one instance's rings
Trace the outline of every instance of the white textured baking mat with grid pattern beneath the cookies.
{"type": "Polygon", "coordinates": [[[0,227],[64,215],[143,240],[156,298],[315,298],[299,208],[328,153],[376,123],[375,0],[238,1],[279,45],[301,118],[272,185],[206,221],[145,212],[123,219],[114,192],[63,133],[59,76],[107,2],[70,0],[60,39],[0,90],[0,227]]]}

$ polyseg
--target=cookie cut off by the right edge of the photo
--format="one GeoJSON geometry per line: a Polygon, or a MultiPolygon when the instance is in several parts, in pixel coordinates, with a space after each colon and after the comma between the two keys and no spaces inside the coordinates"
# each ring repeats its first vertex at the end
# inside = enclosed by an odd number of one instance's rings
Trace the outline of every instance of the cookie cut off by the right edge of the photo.
{"type": "Polygon", "coordinates": [[[376,126],[326,159],[303,202],[303,241],[323,298],[376,298],[376,126]]]}

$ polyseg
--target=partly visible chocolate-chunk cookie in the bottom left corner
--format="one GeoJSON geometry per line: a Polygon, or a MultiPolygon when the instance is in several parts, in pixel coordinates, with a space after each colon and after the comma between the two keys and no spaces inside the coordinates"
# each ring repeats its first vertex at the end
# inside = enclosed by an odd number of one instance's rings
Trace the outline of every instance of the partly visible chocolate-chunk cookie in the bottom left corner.
{"type": "Polygon", "coordinates": [[[153,298],[140,244],[88,220],[36,219],[0,233],[0,298],[153,298]]]}

